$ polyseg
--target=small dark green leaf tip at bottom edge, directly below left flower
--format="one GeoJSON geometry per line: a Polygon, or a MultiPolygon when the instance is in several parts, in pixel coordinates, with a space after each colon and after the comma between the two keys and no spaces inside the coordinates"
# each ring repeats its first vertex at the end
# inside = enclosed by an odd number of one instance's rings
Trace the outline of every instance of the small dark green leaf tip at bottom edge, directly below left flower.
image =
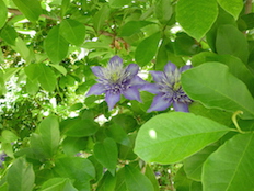
{"type": "Polygon", "coordinates": [[[115,190],[115,186],[116,186],[116,177],[113,177],[111,172],[106,171],[103,178],[100,180],[96,191],[115,190]]]}

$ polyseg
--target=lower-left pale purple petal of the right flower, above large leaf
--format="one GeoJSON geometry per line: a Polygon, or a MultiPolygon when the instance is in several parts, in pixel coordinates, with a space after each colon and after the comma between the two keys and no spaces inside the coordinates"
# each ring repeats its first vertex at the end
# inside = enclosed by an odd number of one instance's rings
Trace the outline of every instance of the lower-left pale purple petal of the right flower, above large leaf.
{"type": "Polygon", "coordinates": [[[162,94],[158,94],[154,97],[151,106],[148,109],[147,112],[152,111],[163,111],[171,105],[172,101],[165,100],[162,94]]]}

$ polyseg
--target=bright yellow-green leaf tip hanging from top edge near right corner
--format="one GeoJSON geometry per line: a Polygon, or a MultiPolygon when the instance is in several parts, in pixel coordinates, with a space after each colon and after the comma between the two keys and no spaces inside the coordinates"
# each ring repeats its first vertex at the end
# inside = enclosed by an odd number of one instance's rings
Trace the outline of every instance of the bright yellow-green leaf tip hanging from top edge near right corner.
{"type": "Polygon", "coordinates": [[[240,12],[243,9],[242,0],[217,0],[221,8],[223,8],[228,13],[238,20],[240,12]]]}

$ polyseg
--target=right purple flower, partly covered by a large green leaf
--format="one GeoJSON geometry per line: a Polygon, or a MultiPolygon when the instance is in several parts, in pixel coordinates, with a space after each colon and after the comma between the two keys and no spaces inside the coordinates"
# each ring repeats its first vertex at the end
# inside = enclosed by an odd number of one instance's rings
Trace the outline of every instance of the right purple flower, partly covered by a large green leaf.
{"type": "Polygon", "coordinates": [[[189,69],[186,65],[180,69],[168,63],[164,71],[150,71],[155,83],[145,85],[141,90],[157,94],[148,112],[163,111],[173,104],[175,111],[188,112],[192,100],[186,96],[181,86],[181,72],[189,69]]]}

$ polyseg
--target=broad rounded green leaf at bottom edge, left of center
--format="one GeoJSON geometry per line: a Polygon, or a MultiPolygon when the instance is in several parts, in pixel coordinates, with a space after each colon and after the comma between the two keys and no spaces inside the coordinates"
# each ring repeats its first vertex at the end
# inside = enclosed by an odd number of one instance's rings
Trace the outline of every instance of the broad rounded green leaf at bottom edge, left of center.
{"type": "Polygon", "coordinates": [[[62,178],[74,180],[73,186],[79,191],[90,189],[90,180],[95,177],[95,169],[86,158],[65,157],[59,158],[53,169],[62,178]]]}

